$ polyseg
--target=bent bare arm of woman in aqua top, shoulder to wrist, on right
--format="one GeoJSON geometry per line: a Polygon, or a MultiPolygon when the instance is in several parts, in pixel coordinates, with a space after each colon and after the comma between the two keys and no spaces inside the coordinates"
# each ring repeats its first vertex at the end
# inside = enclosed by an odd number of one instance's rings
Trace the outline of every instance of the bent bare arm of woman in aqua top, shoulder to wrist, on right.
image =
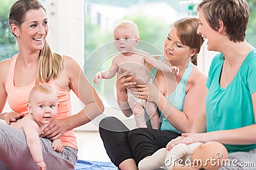
{"type": "Polygon", "coordinates": [[[196,79],[190,86],[184,100],[183,111],[173,107],[166,97],[161,96],[158,107],[163,112],[167,120],[180,132],[190,132],[196,114],[205,104],[207,87],[205,86],[206,76],[197,73],[196,79]],[[173,108],[170,110],[170,108],[173,108]]]}

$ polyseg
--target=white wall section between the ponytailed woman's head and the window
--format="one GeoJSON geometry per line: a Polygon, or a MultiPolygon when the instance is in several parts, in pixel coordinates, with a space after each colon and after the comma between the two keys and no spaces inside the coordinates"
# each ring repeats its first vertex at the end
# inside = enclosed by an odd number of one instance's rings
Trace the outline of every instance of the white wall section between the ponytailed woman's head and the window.
{"type": "Polygon", "coordinates": [[[84,0],[45,0],[52,50],[84,63],[84,0]]]}

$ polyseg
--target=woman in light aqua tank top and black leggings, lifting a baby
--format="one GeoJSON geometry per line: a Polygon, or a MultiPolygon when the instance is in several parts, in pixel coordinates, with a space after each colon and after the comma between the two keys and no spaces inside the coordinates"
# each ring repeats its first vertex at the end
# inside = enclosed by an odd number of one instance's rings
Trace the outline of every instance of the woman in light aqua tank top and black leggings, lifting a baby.
{"type": "MultiPolygon", "coordinates": [[[[184,18],[175,22],[164,41],[164,56],[157,57],[166,64],[179,67],[178,76],[172,74],[164,77],[161,71],[148,66],[155,75],[152,79],[156,85],[134,85],[134,77],[127,75],[121,76],[116,82],[120,108],[127,108],[125,88],[132,86],[141,92],[141,96],[136,97],[156,103],[161,111],[159,130],[139,128],[130,131],[123,122],[114,117],[106,117],[100,121],[99,132],[106,152],[120,169],[138,169],[141,159],[165,147],[168,141],[177,138],[180,133],[190,131],[207,92],[206,76],[194,65],[204,42],[196,34],[197,27],[196,18],[184,18]]],[[[127,117],[132,115],[129,109],[122,110],[122,113],[127,117]]]]}

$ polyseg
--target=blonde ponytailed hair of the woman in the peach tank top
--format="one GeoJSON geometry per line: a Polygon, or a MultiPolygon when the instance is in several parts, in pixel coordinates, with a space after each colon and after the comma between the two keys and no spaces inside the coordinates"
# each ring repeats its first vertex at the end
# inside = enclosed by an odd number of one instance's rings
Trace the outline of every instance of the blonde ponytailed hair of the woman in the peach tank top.
{"type": "MultiPolygon", "coordinates": [[[[9,24],[15,24],[20,27],[25,21],[26,13],[29,10],[39,10],[40,8],[45,11],[44,6],[38,0],[16,1],[10,9],[9,24]]],[[[15,34],[13,35],[15,36],[15,34]]],[[[52,78],[57,78],[63,68],[63,57],[58,53],[52,52],[46,40],[43,49],[40,51],[39,57],[36,84],[39,82],[47,83],[52,78]]]]}

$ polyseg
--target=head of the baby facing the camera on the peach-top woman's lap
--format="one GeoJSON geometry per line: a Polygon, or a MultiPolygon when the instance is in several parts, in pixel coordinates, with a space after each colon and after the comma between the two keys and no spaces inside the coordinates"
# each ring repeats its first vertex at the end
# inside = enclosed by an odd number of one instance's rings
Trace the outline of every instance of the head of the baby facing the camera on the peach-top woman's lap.
{"type": "Polygon", "coordinates": [[[27,108],[38,124],[49,124],[58,113],[56,92],[49,85],[36,85],[29,94],[27,108]]]}

